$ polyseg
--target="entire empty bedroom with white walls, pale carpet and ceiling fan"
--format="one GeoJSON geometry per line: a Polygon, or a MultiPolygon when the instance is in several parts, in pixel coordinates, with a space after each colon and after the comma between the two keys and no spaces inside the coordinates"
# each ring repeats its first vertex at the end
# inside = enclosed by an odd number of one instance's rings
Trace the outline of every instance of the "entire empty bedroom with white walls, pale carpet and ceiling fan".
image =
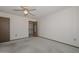
{"type": "Polygon", "coordinates": [[[0,6],[0,53],[79,53],[79,7],[0,6]]]}

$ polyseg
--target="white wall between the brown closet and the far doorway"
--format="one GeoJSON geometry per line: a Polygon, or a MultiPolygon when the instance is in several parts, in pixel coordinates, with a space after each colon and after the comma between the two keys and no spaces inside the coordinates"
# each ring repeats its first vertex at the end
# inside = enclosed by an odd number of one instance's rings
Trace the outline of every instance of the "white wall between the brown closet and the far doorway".
{"type": "Polygon", "coordinates": [[[0,17],[10,18],[10,40],[28,37],[28,21],[24,17],[3,12],[0,17]]]}

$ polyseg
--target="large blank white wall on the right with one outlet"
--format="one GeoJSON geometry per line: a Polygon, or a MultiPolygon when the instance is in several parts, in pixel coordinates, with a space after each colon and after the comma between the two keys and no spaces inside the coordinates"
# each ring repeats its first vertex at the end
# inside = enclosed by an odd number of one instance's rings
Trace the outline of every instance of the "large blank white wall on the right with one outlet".
{"type": "Polygon", "coordinates": [[[39,36],[79,47],[79,9],[69,7],[38,20],[39,36]],[[77,39],[74,41],[74,39],[77,39]]]}

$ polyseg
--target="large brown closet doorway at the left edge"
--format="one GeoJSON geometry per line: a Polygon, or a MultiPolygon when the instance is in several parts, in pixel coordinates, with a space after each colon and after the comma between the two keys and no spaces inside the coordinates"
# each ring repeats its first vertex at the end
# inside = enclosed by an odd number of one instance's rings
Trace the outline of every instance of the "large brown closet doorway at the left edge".
{"type": "Polygon", "coordinates": [[[0,17],[0,43],[10,40],[10,19],[0,17]]]}

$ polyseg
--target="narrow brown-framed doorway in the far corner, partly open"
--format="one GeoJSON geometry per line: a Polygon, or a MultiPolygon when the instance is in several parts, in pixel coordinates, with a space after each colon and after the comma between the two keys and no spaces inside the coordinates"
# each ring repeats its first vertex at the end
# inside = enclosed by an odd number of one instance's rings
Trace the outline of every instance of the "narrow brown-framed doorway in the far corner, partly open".
{"type": "Polygon", "coordinates": [[[29,21],[29,37],[37,37],[37,22],[29,21]]]}

